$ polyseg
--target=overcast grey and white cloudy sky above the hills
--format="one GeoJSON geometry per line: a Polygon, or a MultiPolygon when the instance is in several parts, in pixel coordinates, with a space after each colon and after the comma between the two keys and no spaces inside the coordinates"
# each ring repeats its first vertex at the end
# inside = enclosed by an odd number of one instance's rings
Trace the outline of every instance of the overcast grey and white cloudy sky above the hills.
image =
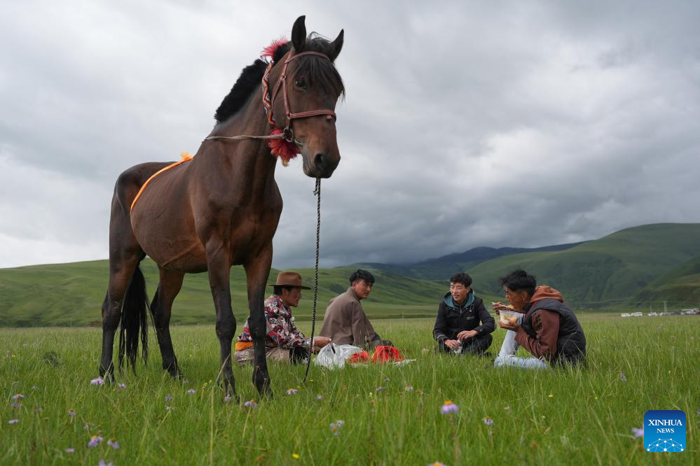
{"type": "MultiPolygon", "coordinates": [[[[124,169],[195,153],[298,15],[345,29],[323,267],[700,222],[692,1],[17,1],[0,17],[0,267],[107,257],[124,169]]],[[[275,267],[313,265],[313,179],[277,167],[275,267]]]]}

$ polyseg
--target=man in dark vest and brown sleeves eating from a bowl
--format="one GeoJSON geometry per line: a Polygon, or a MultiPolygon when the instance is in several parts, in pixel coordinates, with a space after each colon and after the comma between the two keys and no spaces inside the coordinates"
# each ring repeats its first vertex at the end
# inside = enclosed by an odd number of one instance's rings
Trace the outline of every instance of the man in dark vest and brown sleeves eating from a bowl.
{"type": "MultiPolygon", "coordinates": [[[[514,332],[516,344],[507,344],[494,360],[495,367],[514,366],[527,369],[544,369],[549,365],[578,365],[586,361],[586,337],[581,324],[569,306],[564,304],[561,293],[547,285],[537,285],[535,277],[523,270],[512,271],[500,278],[507,302],[519,314],[514,322],[498,325],[514,332]],[[523,346],[530,358],[517,358],[517,345],[523,346]]],[[[510,310],[501,303],[493,305],[495,311],[510,310]]]]}

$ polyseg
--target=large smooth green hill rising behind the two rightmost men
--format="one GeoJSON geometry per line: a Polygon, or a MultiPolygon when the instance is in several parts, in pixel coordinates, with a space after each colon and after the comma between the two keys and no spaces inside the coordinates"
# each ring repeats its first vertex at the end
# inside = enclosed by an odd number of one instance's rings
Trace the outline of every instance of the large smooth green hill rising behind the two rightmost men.
{"type": "Polygon", "coordinates": [[[475,286],[500,292],[497,278],[523,268],[572,302],[627,302],[659,275],[700,255],[700,224],[643,225],[567,250],[507,255],[469,269],[475,286]]]}

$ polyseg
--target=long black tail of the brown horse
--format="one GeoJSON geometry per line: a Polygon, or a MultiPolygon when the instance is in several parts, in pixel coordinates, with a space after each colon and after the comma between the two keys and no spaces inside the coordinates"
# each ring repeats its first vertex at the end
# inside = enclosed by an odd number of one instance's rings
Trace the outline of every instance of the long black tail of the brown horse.
{"type": "MultiPolygon", "coordinates": [[[[143,257],[142,259],[143,260],[143,257]]],[[[139,263],[141,262],[139,260],[139,263]]],[[[124,364],[124,353],[136,372],[136,358],[139,351],[139,331],[141,332],[142,355],[144,363],[149,358],[149,329],[146,319],[146,280],[136,264],[134,274],[124,294],[124,304],[121,313],[121,330],[119,331],[119,370],[124,364]]]]}

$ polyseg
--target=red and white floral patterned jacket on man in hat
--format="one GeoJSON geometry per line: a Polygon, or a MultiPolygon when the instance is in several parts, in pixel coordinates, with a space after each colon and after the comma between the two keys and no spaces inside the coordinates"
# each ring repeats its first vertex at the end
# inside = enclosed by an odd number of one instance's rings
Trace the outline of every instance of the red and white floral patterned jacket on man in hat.
{"type": "MultiPolygon", "coordinates": [[[[294,318],[291,316],[291,309],[284,305],[282,299],[277,295],[272,295],[265,300],[265,320],[267,323],[267,334],[265,335],[265,346],[268,348],[279,346],[280,348],[291,349],[296,346],[309,348],[310,339],[306,338],[294,325],[294,318]]],[[[250,334],[248,320],[236,341],[253,341],[250,334]]]]}

